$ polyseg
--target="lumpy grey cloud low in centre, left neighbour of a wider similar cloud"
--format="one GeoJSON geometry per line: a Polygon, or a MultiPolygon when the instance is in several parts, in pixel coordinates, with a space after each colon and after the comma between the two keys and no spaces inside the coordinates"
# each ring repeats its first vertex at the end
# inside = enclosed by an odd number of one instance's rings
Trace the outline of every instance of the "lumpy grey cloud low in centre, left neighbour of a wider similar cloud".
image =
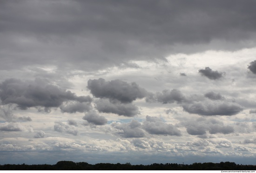
{"type": "Polygon", "coordinates": [[[145,132],[141,129],[141,123],[137,120],[132,120],[130,123],[118,123],[112,122],[111,126],[115,129],[119,129],[118,132],[125,138],[142,138],[145,136],[145,132]]]}

